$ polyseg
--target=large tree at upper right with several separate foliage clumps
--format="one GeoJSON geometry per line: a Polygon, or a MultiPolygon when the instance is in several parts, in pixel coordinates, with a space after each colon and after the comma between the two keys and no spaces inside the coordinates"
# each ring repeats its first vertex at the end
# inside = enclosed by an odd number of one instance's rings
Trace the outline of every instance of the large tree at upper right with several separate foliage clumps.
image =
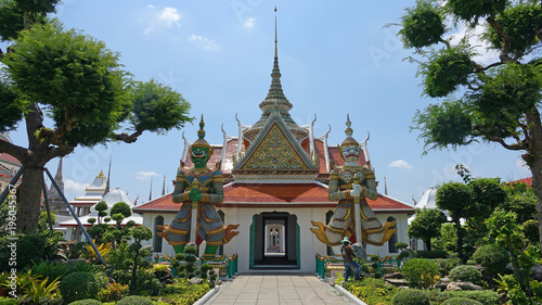
{"type": "Polygon", "coordinates": [[[542,231],[540,1],[418,0],[402,15],[399,35],[414,49],[424,93],[442,99],[414,117],[425,148],[455,149],[481,140],[522,152],[542,231]],[[447,25],[459,24],[468,30],[453,40],[447,25]],[[481,30],[474,30],[476,26],[481,30]],[[489,64],[475,61],[470,38],[486,41],[499,58],[489,64]]]}

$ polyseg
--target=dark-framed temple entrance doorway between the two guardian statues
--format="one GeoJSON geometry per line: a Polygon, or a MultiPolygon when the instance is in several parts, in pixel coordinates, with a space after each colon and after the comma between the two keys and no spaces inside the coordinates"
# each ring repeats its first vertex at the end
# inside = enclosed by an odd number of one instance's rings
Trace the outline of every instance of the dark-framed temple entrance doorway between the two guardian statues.
{"type": "Polygon", "coordinates": [[[299,226],[288,213],[263,212],[254,216],[250,241],[251,269],[298,269],[299,226]]]}

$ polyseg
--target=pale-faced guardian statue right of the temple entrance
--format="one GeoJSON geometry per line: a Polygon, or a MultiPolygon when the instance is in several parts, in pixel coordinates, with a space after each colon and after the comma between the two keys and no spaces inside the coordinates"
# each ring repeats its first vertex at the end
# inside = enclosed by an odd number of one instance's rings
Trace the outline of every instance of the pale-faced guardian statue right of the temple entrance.
{"type": "Polygon", "coordinates": [[[350,118],[347,118],[347,138],[339,147],[339,152],[345,160],[344,166],[337,166],[332,162],[330,168],[328,196],[331,201],[338,201],[337,208],[327,226],[319,221],[311,221],[310,230],[317,238],[327,245],[339,245],[347,237],[352,237],[354,242],[373,245],[383,245],[397,231],[396,221],[384,225],[376,218],[373,209],[369,206],[366,198],[376,200],[376,180],[374,170],[367,160],[364,166],[358,165],[361,156],[361,147],[352,138],[353,130],[350,128],[350,118]],[[354,201],[360,205],[360,215],[357,217],[354,201]],[[356,218],[360,219],[361,239],[356,237],[356,218]]]}

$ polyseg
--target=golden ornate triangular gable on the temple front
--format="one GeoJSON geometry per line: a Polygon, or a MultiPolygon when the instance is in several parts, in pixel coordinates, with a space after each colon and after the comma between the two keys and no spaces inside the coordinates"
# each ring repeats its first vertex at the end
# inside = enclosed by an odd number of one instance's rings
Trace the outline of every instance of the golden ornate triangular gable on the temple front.
{"type": "Polygon", "coordinates": [[[234,165],[232,173],[235,180],[243,178],[241,176],[244,175],[249,175],[253,180],[262,179],[254,175],[266,175],[266,180],[276,179],[268,176],[269,174],[279,174],[280,180],[306,180],[307,177],[302,178],[299,175],[314,174],[312,176],[315,177],[318,165],[295,140],[284,122],[278,115],[273,115],[234,165]]]}

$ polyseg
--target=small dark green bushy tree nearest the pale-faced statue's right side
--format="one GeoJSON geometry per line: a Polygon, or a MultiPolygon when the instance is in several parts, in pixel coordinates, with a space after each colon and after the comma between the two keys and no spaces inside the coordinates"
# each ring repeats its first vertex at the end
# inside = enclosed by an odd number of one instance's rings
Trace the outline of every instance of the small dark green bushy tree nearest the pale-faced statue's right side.
{"type": "Polygon", "coordinates": [[[440,237],[440,226],[446,221],[439,209],[416,208],[416,218],[406,228],[406,233],[411,239],[423,240],[430,250],[431,238],[440,237]]]}

